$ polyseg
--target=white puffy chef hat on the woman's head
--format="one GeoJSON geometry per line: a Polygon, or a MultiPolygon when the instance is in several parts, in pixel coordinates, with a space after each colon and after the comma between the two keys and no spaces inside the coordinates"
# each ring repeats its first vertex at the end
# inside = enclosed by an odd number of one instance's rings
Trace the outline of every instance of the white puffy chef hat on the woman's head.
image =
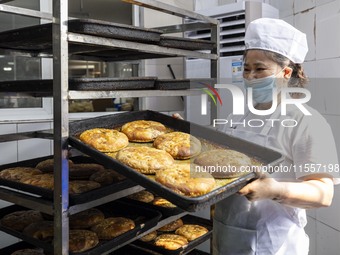
{"type": "Polygon", "coordinates": [[[301,64],[308,52],[306,34],[280,19],[260,18],[252,21],[245,35],[246,49],[279,53],[301,64]]]}

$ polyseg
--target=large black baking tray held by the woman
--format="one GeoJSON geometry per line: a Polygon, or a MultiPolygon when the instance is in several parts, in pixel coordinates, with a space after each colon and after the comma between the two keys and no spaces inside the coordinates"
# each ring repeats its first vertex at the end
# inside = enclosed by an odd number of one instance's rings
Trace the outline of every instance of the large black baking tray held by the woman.
{"type": "Polygon", "coordinates": [[[98,150],[86,145],[78,139],[78,135],[91,128],[117,128],[123,124],[134,121],[134,120],[154,120],[163,123],[165,126],[172,128],[174,130],[179,130],[182,132],[190,133],[198,138],[205,139],[211,143],[228,147],[240,152],[243,152],[251,157],[255,157],[261,161],[263,165],[270,164],[275,166],[283,161],[283,156],[281,153],[274,151],[269,148],[262,147],[258,144],[251,143],[245,140],[241,140],[236,137],[229,136],[225,133],[215,131],[209,127],[204,127],[197,125],[195,123],[190,123],[185,120],[173,118],[171,116],[158,113],[155,111],[136,111],[136,112],[126,112],[115,115],[106,115],[92,119],[74,121],[70,123],[69,128],[69,144],[79,151],[90,155],[95,160],[100,162],[107,168],[114,168],[117,172],[125,175],[134,182],[142,185],[149,191],[163,197],[178,207],[194,212],[217,203],[218,201],[236,193],[240,190],[246,183],[255,178],[255,173],[248,173],[239,177],[230,183],[214,189],[213,191],[198,197],[187,197],[177,194],[171,189],[165,187],[164,185],[151,180],[144,174],[141,174],[134,169],[118,162],[99,152],[98,150]]]}

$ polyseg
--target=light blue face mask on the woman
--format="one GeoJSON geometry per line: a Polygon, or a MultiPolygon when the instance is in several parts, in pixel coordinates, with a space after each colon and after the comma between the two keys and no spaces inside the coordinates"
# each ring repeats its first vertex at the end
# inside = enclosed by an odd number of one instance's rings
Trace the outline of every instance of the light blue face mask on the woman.
{"type": "MultiPolygon", "coordinates": [[[[280,72],[278,72],[278,74],[280,72]]],[[[256,103],[269,103],[273,101],[273,89],[276,88],[276,76],[277,74],[273,74],[259,79],[244,79],[245,88],[252,88],[253,90],[253,101],[256,103]]]]}

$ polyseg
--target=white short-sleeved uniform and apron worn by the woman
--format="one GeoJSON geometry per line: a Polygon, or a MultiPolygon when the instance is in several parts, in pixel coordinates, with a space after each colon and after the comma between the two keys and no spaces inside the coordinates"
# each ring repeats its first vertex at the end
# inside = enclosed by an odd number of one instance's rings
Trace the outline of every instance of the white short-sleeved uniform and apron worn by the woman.
{"type": "MultiPolygon", "coordinates": [[[[222,131],[280,151],[285,160],[278,172],[271,174],[278,181],[298,181],[313,173],[313,166],[319,166],[313,164],[321,164],[320,172],[324,172],[324,168],[331,164],[337,170],[330,174],[339,178],[336,147],[330,126],[318,112],[310,107],[307,109],[312,116],[303,115],[295,106],[288,106],[286,116],[280,115],[279,108],[270,117],[252,113],[242,118],[230,116],[229,121],[245,121],[245,126],[239,124],[236,128],[230,128],[226,125],[222,131]],[[249,127],[248,121],[253,119],[262,120],[267,125],[249,127]],[[284,127],[293,126],[289,119],[296,120],[297,126],[284,127]],[[302,167],[306,163],[311,165],[302,167]],[[290,171],[283,172],[287,169],[290,171]]],[[[250,123],[255,125],[261,122],[250,123]]],[[[325,170],[327,172],[329,169],[325,170]]],[[[339,181],[334,180],[335,183],[339,181]]],[[[305,255],[309,250],[309,239],[304,231],[306,223],[304,209],[288,207],[272,200],[249,202],[243,196],[233,195],[216,204],[213,254],[305,255]]]]}

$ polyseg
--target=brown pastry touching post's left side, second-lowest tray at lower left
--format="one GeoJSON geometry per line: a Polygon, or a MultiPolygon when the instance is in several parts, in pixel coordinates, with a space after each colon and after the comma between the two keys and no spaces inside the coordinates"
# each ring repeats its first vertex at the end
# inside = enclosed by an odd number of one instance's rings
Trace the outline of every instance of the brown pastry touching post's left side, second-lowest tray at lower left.
{"type": "Polygon", "coordinates": [[[29,224],[22,233],[39,240],[50,241],[54,235],[53,227],[53,221],[37,221],[29,224]]]}

